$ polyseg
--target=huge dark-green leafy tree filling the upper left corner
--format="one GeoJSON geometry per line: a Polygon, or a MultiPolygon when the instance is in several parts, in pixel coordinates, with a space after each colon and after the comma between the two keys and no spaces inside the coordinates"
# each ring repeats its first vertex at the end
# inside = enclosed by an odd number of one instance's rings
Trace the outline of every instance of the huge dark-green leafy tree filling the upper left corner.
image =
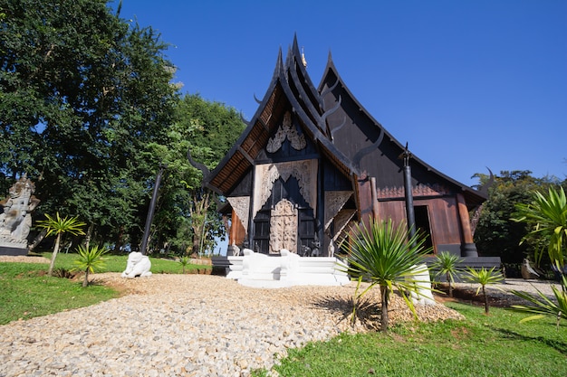
{"type": "MultiPolygon", "coordinates": [[[[178,89],[167,45],[106,0],[0,0],[0,173],[42,212],[139,233],[178,89]]],[[[5,185],[10,183],[3,182],[5,185]]]]}

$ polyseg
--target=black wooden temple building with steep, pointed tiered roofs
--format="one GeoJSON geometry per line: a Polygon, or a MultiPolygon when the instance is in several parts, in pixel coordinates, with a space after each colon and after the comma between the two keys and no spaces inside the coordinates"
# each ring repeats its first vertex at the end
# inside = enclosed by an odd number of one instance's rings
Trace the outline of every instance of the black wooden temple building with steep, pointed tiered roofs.
{"type": "MultiPolygon", "coordinates": [[[[406,220],[405,146],[341,80],[331,54],[315,87],[297,40],[248,127],[206,185],[227,199],[229,244],[262,253],[332,256],[350,224],[406,220]]],[[[412,156],[415,221],[435,252],[476,259],[469,212],[485,195],[412,156]]]]}

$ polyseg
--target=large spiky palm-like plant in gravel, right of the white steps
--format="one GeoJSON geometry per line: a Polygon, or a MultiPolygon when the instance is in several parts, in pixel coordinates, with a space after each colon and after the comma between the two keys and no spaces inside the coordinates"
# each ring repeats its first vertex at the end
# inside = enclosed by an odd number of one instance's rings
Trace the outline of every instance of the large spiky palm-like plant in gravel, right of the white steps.
{"type": "MultiPolygon", "coordinates": [[[[418,294],[414,275],[423,272],[417,270],[425,259],[429,249],[423,247],[425,239],[416,234],[409,236],[406,225],[401,222],[397,227],[393,221],[370,221],[370,226],[356,226],[356,235],[351,240],[341,243],[341,248],[348,253],[346,272],[359,277],[359,287],[362,279],[370,282],[360,294],[355,293],[354,311],[357,300],[364,296],[372,287],[380,287],[381,323],[380,331],[387,331],[389,325],[388,306],[389,296],[394,288],[408,304],[414,316],[417,316],[409,293],[418,294]]],[[[425,265],[424,265],[425,266],[425,265]]],[[[427,267],[424,267],[427,269],[427,267]]],[[[354,316],[353,316],[354,318],[354,316]]]]}

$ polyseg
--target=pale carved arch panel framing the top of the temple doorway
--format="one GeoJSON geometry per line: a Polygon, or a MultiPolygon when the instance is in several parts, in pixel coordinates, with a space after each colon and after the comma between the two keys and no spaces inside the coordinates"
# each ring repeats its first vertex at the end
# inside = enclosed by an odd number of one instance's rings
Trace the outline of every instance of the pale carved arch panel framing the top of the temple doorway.
{"type": "Polygon", "coordinates": [[[254,217],[272,194],[274,182],[282,178],[284,182],[294,176],[300,193],[314,212],[317,211],[317,160],[293,161],[278,164],[256,165],[254,217]]]}

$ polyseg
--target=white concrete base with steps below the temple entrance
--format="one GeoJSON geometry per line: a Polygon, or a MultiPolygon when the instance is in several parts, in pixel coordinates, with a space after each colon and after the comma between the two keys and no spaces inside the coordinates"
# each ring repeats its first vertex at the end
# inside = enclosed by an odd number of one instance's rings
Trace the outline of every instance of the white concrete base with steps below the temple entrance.
{"type": "Polygon", "coordinates": [[[351,280],[340,259],[300,257],[289,250],[266,255],[245,249],[242,257],[228,257],[233,278],[246,287],[343,286],[351,280]]]}

